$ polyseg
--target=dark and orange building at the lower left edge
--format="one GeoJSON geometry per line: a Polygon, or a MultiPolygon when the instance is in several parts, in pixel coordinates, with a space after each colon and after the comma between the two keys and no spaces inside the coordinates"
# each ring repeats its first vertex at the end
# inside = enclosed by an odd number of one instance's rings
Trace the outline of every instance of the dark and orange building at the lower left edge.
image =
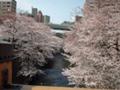
{"type": "Polygon", "coordinates": [[[0,42],[0,90],[12,84],[13,45],[0,42]]]}

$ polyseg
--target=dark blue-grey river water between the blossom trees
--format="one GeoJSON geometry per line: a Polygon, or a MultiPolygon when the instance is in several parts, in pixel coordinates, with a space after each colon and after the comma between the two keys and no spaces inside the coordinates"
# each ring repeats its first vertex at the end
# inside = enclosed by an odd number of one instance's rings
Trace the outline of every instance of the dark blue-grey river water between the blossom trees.
{"type": "Polygon", "coordinates": [[[55,62],[51,69],[46,69],[46,84],[51,86],[67,86],[68,79],[65,77],[62,72],[63,68],[67,66],[67,62],[65,61],[65,56],[62,54],[58,54],[54,58],[55,62]]]}

